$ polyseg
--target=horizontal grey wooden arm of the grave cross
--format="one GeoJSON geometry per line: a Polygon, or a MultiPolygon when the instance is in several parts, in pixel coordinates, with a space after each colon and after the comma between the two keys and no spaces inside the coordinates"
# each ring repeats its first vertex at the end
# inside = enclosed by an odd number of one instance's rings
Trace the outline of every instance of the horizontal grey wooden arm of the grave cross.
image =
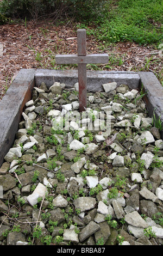
{"type": "Polygon", "coordinates": [[[78,56],[76,54],[57,54],[55,56],[56,64],[95,64],[108,63],[108,54],[87,54],[86,56],[78,56]]]}

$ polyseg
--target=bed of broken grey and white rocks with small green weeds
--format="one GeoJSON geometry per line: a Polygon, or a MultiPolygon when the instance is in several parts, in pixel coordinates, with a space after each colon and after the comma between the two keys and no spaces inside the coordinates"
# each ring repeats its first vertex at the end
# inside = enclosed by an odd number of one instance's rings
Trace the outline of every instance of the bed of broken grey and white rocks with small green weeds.
{"type": "Polygon", "coordinates": [[[163,142],[141,92],[78,84],[26,103],[0,168],[1,245],[162,245],[163,142]]]}

